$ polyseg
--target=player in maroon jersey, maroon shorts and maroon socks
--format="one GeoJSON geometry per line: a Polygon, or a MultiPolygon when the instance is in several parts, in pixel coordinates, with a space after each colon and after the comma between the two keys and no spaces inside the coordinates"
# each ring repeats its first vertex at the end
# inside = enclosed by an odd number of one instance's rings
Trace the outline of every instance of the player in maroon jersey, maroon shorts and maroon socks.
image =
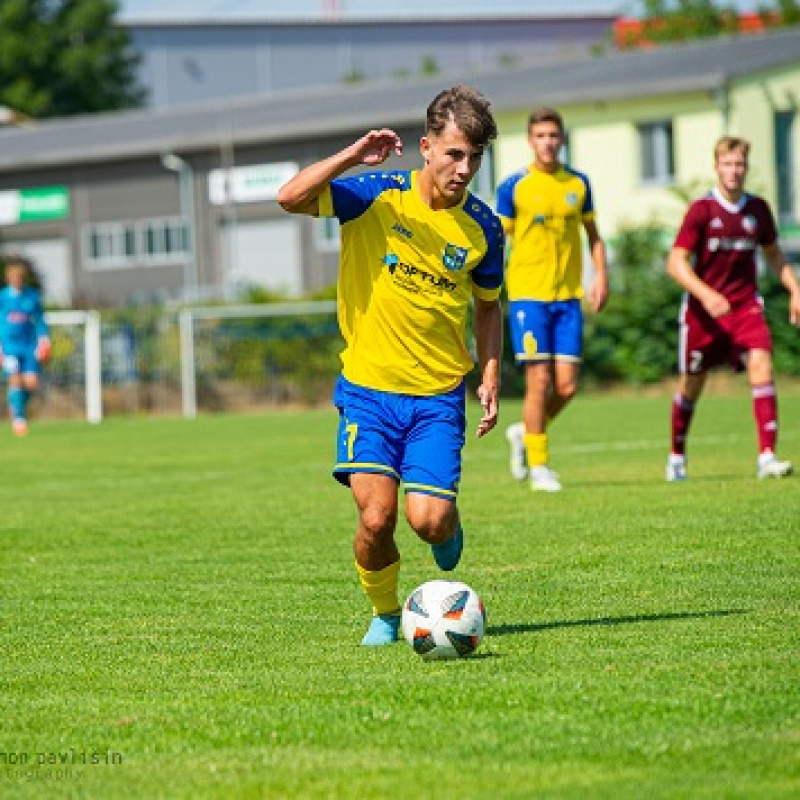
{"type": "Polygon", "coordinates": [[[672,403],[672,452],[667,480],[686,480],[686,438],[708,371],[728,363],[747,370],[758,430],[759,478],[792,471],[775,455],[777,400],[772,337],[757,290],[756,250],[790,294],[789,317],[800,325],[800,284],[778,244],[767,203],[744,191],[750,144],[723,136],[714,148],[717,185],[689,207],[667,270],[684,288],[678,393],[672,403]]]}

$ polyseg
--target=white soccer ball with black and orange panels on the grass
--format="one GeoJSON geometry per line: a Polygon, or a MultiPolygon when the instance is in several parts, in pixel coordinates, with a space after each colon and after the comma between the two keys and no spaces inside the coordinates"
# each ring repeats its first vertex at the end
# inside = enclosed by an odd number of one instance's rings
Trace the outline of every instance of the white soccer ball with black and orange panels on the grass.
{"type": "Polygon", "coordinates": [[[426,661],[464,658],[486,633],[486,609],[478,593],[459,581],[428,581],[403,605],[403,635],[426,661]]]}

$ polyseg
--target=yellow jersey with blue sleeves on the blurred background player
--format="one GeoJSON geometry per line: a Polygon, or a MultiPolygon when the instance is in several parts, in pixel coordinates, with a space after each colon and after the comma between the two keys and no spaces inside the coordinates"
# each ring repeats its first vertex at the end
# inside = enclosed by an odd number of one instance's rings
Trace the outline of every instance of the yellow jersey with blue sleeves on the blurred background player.
{"type": "Polygon", "coordinates": [[[563,165],[553,174],[526,167],[498,187],[497,213],[512,237],[509,300],[583,296],[581,227],[594,219],[585,175],[563,165]]]}

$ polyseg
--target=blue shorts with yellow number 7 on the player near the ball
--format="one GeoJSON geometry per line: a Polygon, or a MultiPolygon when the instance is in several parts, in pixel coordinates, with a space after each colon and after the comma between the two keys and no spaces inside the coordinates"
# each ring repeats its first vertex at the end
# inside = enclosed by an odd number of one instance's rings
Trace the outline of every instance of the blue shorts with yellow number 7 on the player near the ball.
{"type": "Polygon", "coordinates": [[[455,500],[461,479],[466,430],[462,382],[433,397],[367,389],[339,377],[333,395],[339,409],[336,466],[345,486],[354,472],[388,475],[405,491],[455,500]]]}

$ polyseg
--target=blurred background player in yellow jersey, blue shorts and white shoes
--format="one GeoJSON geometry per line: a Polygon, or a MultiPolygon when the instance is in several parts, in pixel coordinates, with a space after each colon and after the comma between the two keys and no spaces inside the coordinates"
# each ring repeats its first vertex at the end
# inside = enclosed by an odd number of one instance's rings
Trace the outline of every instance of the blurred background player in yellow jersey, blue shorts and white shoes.
{"type": "Polygon", "coordinates": [[[585,175],[559,161],[564,123],[551,108],[528,119],[534,162],[500,185],[497,213],[511,242],[507,289],[514,357],[525,369],[522,422],[506,431],[511,474],[531,488],[561,490],[548,466],[547,424],[575,394],[583,355],[581,227],[594,262],[589,301],[608,297],[605,244],[595,225],[585,175]]]}

